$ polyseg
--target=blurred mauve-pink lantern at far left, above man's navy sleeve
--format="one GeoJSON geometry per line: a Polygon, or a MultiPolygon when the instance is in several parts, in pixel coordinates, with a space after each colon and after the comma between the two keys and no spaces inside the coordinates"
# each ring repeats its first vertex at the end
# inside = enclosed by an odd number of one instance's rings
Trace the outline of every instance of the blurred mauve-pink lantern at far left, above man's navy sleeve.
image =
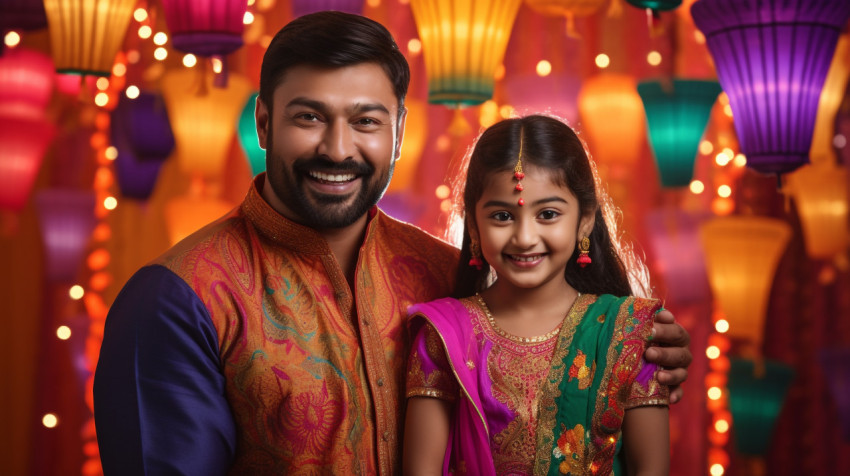
{"type": "Polygon", "coordinates": [[[90,190],[47,189],[36,193],[47,279],[73,281],[97,222],[90,190]]]}

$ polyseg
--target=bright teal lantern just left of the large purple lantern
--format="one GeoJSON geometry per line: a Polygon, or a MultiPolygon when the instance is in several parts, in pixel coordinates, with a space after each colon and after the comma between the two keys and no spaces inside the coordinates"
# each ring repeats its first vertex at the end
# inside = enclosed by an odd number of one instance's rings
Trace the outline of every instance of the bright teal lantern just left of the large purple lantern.
{"type": "Polygon", "coordinates": [[[717,81],[642,81],[649,142],[662,187],[690,184],[700,139],[721,88],[717,81]]]}

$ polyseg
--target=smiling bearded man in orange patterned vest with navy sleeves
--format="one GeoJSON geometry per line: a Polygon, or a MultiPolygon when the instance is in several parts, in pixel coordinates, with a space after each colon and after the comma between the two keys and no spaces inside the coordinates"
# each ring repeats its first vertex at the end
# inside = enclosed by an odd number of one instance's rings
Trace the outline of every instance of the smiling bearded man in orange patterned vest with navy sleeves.
{"type": "MultiPolygon", "coordinates": [[[[458,258],[375,207],[409,76],[365,17],[316,13],[272,40],[256,108],[267,174],[110,310],[94,384],[107,475],[400,471],[406,309],[449,295],[458,258]]],[[[687,334],[657,324],[657,340],[687,334]]]]}

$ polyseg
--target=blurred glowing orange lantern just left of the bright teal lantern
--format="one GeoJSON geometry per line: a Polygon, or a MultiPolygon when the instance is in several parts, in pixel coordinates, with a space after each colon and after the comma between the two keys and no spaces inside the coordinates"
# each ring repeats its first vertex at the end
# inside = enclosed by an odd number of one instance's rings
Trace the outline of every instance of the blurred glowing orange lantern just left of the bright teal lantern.
{"type": "Polygon", "coordinates": [[[603,73],[578,93],[581,132],[597,162],[633,164],[646,135],[643,104],[631,76],[603,73]]]}

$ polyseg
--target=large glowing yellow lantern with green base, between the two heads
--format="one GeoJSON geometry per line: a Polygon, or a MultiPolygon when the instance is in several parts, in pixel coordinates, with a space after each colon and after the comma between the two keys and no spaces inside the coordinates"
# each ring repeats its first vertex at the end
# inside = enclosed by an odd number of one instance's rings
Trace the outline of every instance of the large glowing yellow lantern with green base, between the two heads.
{"type": "Polygon", "coordinates": [[[521,0],[410,0],[428,74],[428,101],[474,106],[493,96],[521,0]]]}

